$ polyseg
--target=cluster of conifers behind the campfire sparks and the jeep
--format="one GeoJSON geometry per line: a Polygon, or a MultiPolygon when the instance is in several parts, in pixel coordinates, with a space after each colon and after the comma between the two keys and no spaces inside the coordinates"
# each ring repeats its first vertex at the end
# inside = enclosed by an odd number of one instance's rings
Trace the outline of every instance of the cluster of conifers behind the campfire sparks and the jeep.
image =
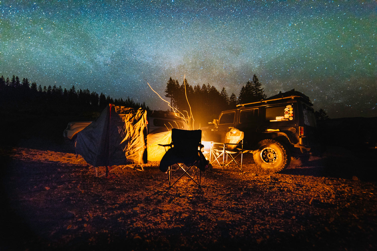
{"type": "Polygon", "coordinates": [[[170,77],[166,83],[165,96],[170,98],[173,107],[184,114],[183,111],[190,113],[188,100],[194,119],[198,119],[202,126],[203,123],[218,118],[223,110],[234,109],[237,104],[251,103],[266,98],[264,89],[255,74],[251,82],[248,81],[245,86],[242,86],[238,98],[234,93],[229,96],[224,87],[219,92],[215,86],[210,86],[209,83],[193,87],[187,79],[184,82],[179,84],[178,80],[170,77]]]}

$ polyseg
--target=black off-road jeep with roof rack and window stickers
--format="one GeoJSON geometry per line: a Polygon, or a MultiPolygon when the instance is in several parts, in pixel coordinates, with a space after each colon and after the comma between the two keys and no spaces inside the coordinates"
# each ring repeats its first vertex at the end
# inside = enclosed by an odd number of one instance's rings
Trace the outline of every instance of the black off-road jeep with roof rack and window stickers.
{"type": "Polygon", "coordinates": [[[244,132],[244,149],[253,153],[261,168],[278,172],[290,164],[291,156],[319,149],[316,120],[309,97],[291,90],[258,102],[239,104],[221,112],[207,127],[202,140],[225,142],[231,127],[244,132]]]}

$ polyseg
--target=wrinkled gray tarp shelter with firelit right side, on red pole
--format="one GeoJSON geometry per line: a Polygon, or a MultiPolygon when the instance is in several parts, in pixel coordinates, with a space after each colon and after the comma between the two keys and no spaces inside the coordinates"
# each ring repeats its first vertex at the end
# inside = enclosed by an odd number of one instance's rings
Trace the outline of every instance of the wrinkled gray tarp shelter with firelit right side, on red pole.
{"type": "Polygon", "coordinates": [[[147,162],[147,111],[109,106],[78,133],[76,153],[93,166],[147,162]]]}

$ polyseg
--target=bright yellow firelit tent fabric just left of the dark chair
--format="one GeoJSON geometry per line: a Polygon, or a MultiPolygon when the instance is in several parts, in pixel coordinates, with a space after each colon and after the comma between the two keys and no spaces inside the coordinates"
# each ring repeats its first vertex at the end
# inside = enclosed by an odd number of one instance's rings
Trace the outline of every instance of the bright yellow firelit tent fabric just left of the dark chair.
{"type": "Polygon", "coordinates": [[[166,153],[165,147],[172,142],[172,130],[161,127],[153,130],[147,135],[148,161],[160,161],[166,153]]]}

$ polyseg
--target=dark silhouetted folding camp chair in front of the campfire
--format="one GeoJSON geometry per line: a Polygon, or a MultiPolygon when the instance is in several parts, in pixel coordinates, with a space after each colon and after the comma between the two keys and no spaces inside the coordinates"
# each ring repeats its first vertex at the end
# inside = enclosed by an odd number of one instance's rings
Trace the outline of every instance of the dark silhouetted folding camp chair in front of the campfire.
{"type": "Polygon", "coordinates": [[[172,142],[168,145],[160,145],[170,147],[161,159],[159,169],[169,174],[169,187],[173,186],[180,180],[183,175],[188,175],[199,187],[201,183],[201,171],[205,170],[208,161],[199,150],[204,146],[201,144],[201,130],[181,130],[172,129],[172,142]],[[178,169],[172,173],[172,165],[177,164],[178,169]],[[188,168],[185,168],[187,166],[188,168]],[[183,174],[173,182],[172,175],[178,170],[183,170],[183,174]],[[193,171],[193,175],[189,171],[193,171]]]}

